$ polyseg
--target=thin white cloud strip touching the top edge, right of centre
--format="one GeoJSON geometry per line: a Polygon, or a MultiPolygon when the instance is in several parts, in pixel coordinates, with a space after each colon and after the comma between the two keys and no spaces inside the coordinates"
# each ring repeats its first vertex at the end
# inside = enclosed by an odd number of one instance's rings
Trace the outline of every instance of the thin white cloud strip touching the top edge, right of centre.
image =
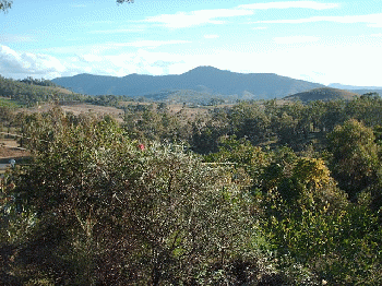
{"type": "Polygon", "coordinates": [[[324,10],[324,9],[334,9],[338,7],[339,4],[337,3],[321,3],[317,1],[285,1],[285,2],[243,4],[243,5],[239,5],[238,8],[253,9],[253,10],[291,9],[291,8],[324,10]]]}

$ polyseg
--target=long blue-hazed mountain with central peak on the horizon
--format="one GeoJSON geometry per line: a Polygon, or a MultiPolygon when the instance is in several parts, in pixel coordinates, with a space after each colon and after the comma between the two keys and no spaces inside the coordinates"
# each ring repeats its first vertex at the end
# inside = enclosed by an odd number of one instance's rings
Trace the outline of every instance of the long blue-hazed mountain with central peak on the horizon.
{"type": "Polygon", "coordinates": [[[322,84],[294,80],[273,73],[236,73],[213,67],[199,67],[179,75],[130,74],[123,78],[77,74],[52,82],[88,95],[146,96],[162,91],[195,91],[215,96],[239,98],[280,98],[290,94],[324,87],[322,84]]]}

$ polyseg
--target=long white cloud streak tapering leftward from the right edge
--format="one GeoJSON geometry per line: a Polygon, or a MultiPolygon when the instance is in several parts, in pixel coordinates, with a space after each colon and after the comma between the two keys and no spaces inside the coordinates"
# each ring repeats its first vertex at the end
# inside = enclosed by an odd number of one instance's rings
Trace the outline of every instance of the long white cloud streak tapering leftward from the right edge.
{"type": "Polygon", "coordinates": [[[368,14],[368,15],[345,15],[345,16],[312,16],[306,19],[294,20],[272,20],[272,21],[258,21],[254,23],[271,23],[271,24],[302,24],[314,22],[334,22],[343,24],[365,23],[370,27],[382,27],[382,13],[368,14]]]}

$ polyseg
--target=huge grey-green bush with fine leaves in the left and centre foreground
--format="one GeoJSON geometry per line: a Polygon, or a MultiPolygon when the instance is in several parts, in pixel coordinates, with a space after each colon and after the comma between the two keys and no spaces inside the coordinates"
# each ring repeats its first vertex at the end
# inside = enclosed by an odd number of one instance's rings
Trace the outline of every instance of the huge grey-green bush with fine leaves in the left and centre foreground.
{"type": "Polygon", "coordinates": [[[110,118],[56,109],[25,123],[33,159],[10,177],[19,216],[36,216],[16,258],[25,281],[205,284],[237,279],[237,260],[256,267],[250,198],[225,169],[178,148],[141,151],[110,118]]]}

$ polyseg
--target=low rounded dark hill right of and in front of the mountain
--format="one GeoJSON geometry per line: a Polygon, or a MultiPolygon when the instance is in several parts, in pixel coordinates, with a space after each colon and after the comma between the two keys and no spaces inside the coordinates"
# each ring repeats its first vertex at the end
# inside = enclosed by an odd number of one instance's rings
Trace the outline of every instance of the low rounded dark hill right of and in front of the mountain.
{"type": "Polygon", "coordinates": [[[313,102],[313,100],[333,100],[333,99],[351,99],[354,97],[359,96],[357,93],[331,88],[331,87],[322,87],[314,88],[303,93],[297,93],[290,96],[284,97],[287,100],[301,100],[303,103],[313,102]]]}

